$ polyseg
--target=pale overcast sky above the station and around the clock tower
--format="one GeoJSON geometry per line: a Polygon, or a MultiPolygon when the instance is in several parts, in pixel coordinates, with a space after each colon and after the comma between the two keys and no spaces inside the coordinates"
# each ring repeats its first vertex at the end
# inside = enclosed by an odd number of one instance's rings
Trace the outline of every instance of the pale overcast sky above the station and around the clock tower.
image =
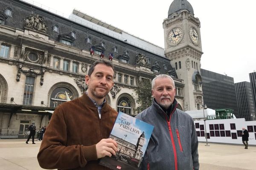
{"type": "MultiPolygon", "coordinates": [[[[25,0],[32,2],[31,0],[25,0]]],[[[68,16],[76,8],[164,47],[163,20],[173,0],[39,0],[68,16]]],[[[201,68],[250,82],[256,70],[256,0],[188,0],[201,22],[201,68]]]]}

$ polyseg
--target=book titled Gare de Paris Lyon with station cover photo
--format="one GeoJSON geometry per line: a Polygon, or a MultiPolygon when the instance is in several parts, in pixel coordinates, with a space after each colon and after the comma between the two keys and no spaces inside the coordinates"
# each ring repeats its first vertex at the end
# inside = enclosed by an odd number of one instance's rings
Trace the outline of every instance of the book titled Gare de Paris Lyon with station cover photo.
{"type": "Polygon", "coordinates": [[[99,164],[113,170],[138,170],[154,126],[119,112],[109,138],[117,143],[116,156],[105,156],[99,164]]]}

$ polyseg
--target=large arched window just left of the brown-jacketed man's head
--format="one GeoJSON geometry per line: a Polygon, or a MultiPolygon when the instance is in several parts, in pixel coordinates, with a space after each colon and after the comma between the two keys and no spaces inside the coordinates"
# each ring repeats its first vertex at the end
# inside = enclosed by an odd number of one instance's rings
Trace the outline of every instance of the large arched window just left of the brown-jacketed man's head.
{"type": "Polygon", "coordinates": [[[50,107],[57,107],[63,102],[73,100],[73,93],[65,87],[58,87],[52,91],[50,99],[50,107]]]}

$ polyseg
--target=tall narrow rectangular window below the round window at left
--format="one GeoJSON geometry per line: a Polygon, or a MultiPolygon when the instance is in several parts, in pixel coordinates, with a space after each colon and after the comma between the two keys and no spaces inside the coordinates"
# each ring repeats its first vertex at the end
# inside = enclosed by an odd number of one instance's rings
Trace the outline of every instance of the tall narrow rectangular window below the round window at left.
{"type": "Polygon", "coordinates": [[[35,77],[26,76],[23,105],[32,105],[34,85],[35,85],[35,77]]]}

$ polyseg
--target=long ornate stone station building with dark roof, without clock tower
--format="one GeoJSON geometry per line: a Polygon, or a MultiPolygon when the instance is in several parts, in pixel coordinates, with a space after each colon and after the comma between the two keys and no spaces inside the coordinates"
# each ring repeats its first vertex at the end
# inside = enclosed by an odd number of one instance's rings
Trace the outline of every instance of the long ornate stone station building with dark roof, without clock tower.
{"type": "MultiPolygon", "coordinates": [[[[179,89],[179,108],[184,109],[184,81],[170,59],[20,0],[1,0],[0,6],[0,46],[5,51],[0,54],[0,104],[54,108],[80,97],[87,89],[84,76],[90,65],[111,55],[115,87],[106,99],[112,108],[136,115],[134,89],[140,79],[169,74],[179,89]],[[12,16],[6,18],[5,9],[12,16]]],[[[32,122],[38,129],[49,123],[48,113],[13,111],[0,110],[0,133],[23,134],[32,122]]]]}

